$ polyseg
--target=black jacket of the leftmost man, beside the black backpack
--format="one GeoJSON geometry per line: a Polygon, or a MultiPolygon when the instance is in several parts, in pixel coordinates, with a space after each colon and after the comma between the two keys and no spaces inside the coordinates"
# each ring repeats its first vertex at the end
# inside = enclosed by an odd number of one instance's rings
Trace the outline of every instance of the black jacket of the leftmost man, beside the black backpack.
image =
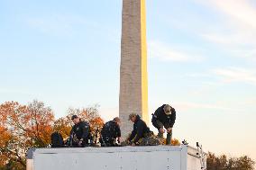
{"type": "Polygon", "coordinates": [[[83,139],[86,143],[87,140],[91,138],[90,126],[87,121],[79,121],[78,124],[75,124],[70,131],[71,138],[74,138],[76,135],[77,139],[83,139]]]}

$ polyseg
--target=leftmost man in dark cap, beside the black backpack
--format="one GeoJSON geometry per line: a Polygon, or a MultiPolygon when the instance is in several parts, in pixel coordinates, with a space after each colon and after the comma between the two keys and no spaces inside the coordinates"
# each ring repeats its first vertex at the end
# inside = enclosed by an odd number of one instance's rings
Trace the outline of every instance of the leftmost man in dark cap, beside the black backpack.
{"type": "Polygon", "coordinates": [[[75,124],[70,131],[71,147],[90,146],[92,144],[92,135],[89,123],[87,121],[81,121],[77,115],[73,115],[71,120],[75,124]]]}

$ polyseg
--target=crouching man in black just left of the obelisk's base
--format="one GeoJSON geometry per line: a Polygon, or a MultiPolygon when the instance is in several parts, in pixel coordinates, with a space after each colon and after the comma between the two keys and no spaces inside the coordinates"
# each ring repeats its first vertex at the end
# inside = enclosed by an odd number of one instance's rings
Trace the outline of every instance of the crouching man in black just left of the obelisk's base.
{"type": "Polygon", "coordinates": [[[99,139],[102,147],[116,147],[120,143],[121,130],[120,130],[120,119],[114,118],[113,121],[108,121],[101,130],[101,137],[99,139]]]}

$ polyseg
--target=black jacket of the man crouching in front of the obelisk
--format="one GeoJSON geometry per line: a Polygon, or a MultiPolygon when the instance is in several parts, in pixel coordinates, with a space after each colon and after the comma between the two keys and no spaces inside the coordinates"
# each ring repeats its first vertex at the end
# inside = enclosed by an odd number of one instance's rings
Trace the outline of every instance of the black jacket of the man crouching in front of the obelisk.
{"type": "Polygon", "coordinates": [[[139,115],[137,115],[136,121],[133,124],[132,134],[128,140],[129,141],[133,140],[133,142],[136,143],[139,141],[139,139],[144,138],[145,135],[150,132],[151,130],[147,127],[146,123],[142,121],[139,115]]]}

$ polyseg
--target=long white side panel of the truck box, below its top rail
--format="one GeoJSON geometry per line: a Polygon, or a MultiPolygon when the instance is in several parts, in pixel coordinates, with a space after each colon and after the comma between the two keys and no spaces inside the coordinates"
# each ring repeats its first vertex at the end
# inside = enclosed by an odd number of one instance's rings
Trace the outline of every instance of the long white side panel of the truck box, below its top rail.
{"type": "Polygon", "coordinates": [[[36,154],[36,170],[156,170],[180,169],[180,152],[36,154]]]}

